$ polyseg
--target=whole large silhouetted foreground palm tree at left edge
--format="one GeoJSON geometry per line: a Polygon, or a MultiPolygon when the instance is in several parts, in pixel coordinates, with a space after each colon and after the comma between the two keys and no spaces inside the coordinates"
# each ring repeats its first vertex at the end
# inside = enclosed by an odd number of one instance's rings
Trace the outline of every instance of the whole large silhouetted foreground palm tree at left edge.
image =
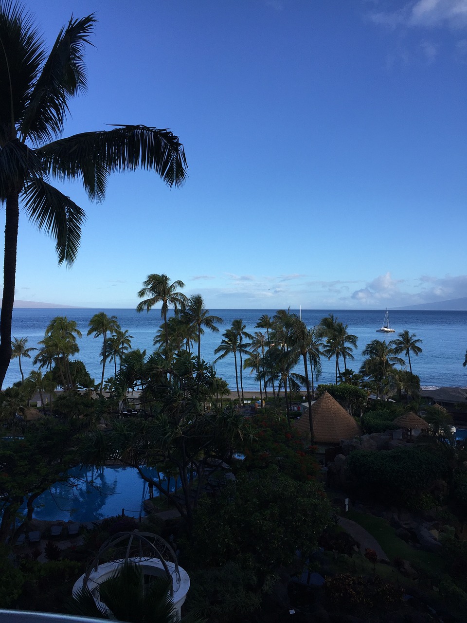
{"type": "Polygon", "coordinates": [[[102,201],[115,171],[153,170],[169,186],[186,177],[183,146],[169,130],[120,125],[59,138],[70,100],[87,87],[85,49],[94,14],[70,18],[49,53],[29,12],[0,0],[0,203],[5,205],[4,280],[0,313],[0,386],[11,358],[19,206],[51,234],[59,264],[73,264],[85,213],[50,184],[78,179],[102,201]]]}

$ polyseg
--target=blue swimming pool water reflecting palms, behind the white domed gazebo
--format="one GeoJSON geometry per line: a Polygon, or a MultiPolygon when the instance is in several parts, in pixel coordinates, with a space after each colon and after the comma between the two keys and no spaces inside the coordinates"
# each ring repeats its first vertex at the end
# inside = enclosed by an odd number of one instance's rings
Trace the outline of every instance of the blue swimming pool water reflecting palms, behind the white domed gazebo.
{"type": "MultiPolygon", "coordinates": [[[[157,479],[155,468],[145,473],[157,479]]],[[[99,521],[106,517],[125,515],[138,517],[148,495],[146,483],[133,467],[75,468],[70,482],[57,482],[35,500],[34,518],[45,521],[99,521]]],[[[167,481],[163,482],[167,487],[167,481]]],[[[176,481],[171,478],[170,490],[176,481]]],[[[154,488],[154,495],[158,495],[154,488]]]]}

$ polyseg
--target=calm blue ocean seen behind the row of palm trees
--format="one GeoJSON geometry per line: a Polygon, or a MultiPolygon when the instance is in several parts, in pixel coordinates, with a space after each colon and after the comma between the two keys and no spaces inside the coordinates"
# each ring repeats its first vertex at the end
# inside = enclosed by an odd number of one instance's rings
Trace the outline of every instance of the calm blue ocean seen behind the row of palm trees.
{"type": "MultiPolygon", "coordinates": [[[[69,320],[77,321],[83,337],[78,339],[80,352],[76,358],[81,359],[89,373],[96,381],[100,381],[101,364],[100,350],[102,338],[87,337],[88,322],[97,312],[105,312],[108,316],[115,315],[123,330],[128,329],[132,348],[146,349],[152,353],[153,338],[163,322],[159,309],[151,312],[137,313],[133,309],[15,309],[12,319],[12,336],[28,338],[27,346],[37,346],[37,342],[44,338],[45,327],[55,316],[67,316],[69,320]]],[[[263,314],[273,316],[276,310],[210,310],[212,315],[223,318],[224,324],[219,326],[219,333],[205,331],[201,338],[201,353],[209,363],[214,361],[214,350],[222,340],[222,332],[229,328],[232,320],[242,318],[249,333],[259,331],[255,328],[258,318],[263,314]]],[[[291,312],[299,314],[298,310],[291,312]]],[[[376,333],[384,319],[384,310],[301,310],[302,320],[308,326],[319,323],[321,318],[333,313],[338,320],[348,325],[349,333],[358,337],[358,348],[354,351],[354,361],[347,366],[358,371],[364,359],[362,350],[371,340],[386,340],[397,338],[399,331],[407,329],[415,333],[422,340],[420,346],[423,353],[420,356],[411,356],[413,373],[420,376],[424,387],[440,386],[467,386],[467,368],[463,367],[467,348],[467,312],[427,312],[427,311],[390,311],[390,324],[395,333],[384,335],[376,333]]],[[[21,364],[25,376],[32,369],[32,359],[22,358],[21,364]]],[[[221,376],[230,389],[235,389],[235,370],[233,356],[227,356],[216,364],[217,374],[221,376]]],[[[408,367],[408,366],[407,366],[408,367]]],[[[113,376],[113,362],[106,364],[105,376],[113,376]]],[[[297,372],[303,373],[303,366],[298,366],[297,372]]],[[[13,359],[7,371],[4,388],[21,379],[18,360],[13,359]]],[[[323,358],[323,374],[320,383],[334,382],[334,361],[323,358]]],[[[243,371],[243,387],[245,390],[255,391],[259,388],[249,370],[243,371]]]]}

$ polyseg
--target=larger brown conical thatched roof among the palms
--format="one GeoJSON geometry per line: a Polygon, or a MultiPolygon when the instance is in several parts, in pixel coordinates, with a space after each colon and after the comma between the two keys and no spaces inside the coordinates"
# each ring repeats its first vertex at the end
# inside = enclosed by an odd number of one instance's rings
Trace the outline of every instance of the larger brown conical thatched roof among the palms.
{"type": "MultiPolygon", "coordinates": [[[[354,418],[327,391],[311,405],[311,417],[314,440],[318,444],[339,444],[341,439],[352,439],[362,434],[354,418]]],[[[308,409],[300,420],[293,422],[293,426],[301,435],[309,437],[308,409]]]]}

